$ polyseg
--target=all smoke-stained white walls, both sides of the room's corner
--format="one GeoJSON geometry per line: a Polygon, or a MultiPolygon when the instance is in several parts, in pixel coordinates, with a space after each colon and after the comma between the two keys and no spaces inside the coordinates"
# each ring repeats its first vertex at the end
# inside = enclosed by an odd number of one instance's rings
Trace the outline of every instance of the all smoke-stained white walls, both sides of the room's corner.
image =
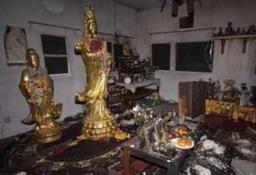
{"type": "MultiPolygon", "coordinates": [[[[213,31],[147,35],[148,32],[178,30],[178,18],[171,18],[171,7],[165,7],[162,13],[160,13],[160,9],[135,12],[133,9],[114,4],[116,10],[112,11],[111,2],[107,0],[64,0],[64,11],[54,13],[48,11],[42,5],[42,1],[39,0],[1,0],[0,106],[3,117],[10,117],[11,123],[5,124],[3,134],[0,137],[20,133],[33,126],[20,123],[20,120],[29,114],[29,107],[18,89],[20,74],[25,69],[25,66],[7,66],[4,54],[5,27],[16,26],[26,29],[28,47],[34,47],[37,50],[42,66],[44,66],[44,62],[40,34],[67,36],[71,74],[69,76],[52,77],[55,85],[55,103],[62,102],[64,104],[63,112],[59,119],[63,120],[64,117],[82,110],[80,105],[74,103],[74,96],[75,91],[83,90],[86,84],[85,67],[80,55],[75,55],[73,52],[73,47],[82,31],[30,25],[28,20],[83,30],[83,7],[86,5],[94,7],[99,32],[113,33],[113,14],[116,17],[116,29],[119,29],[122,35],[135,37],[131,41],[131,47],[137,45],[141,59],[151,56],[152,43],[171,43],[170,71],[158,71],[156,74],[157,77],[162,79],[160,94],[166,99],[178,100],[178,82],[198,79],[206,80],[209,77],[214,80],[220,80],[220,82],[227,78],[233,78],[236,80],[236,86],[239,86],[240,82],[256,85],[256,79],[252,76],[255,65],[256,54],[254,50],[256,49],[256,44],[252,41],[247,44],[246,54],[241,54],[241,40],[227,41],[224,55],[220,54],[220,44],[217,41],[214,47],[213,73],[175,71],[175,43],[208,41],[213,31]]],[[[238,26],[248,28],[250,25],[255,24],[255,7],[256,2],[254,0],[205,0],[203,1],[203,9],[200,9],[198,2],[195,2],[194,28],[219,28],[220,26],[225,28],[228,21],[233,23],[233,28],[238,26]]],[[[178,7],[178,17],[184,16],[187,16],[186,4],[178,7]]],[[[111,36],[104,37],[108,41],[112,41],[111,36]]],[[[120,42],[122,42],[122,38],[120,42]]],[[[3,120],[0,117],[0,129],[3,124],[3,120]]]]}

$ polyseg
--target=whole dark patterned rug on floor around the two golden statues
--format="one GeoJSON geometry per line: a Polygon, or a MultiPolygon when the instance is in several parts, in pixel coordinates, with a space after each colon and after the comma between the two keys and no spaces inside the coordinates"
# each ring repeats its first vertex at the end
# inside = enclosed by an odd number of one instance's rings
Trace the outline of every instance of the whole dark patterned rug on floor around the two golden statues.
{"type": "Polygon", "coordinates": [[[39,144],[32,131],[0,141],[0,174],[116,174],[122,169],[121,144],[124,141],[109,139],[80,141],[75,147],[59,155],[49,153],[61,149],[80,136],[82,122],[61,122],[59,141],[39,144]]]}

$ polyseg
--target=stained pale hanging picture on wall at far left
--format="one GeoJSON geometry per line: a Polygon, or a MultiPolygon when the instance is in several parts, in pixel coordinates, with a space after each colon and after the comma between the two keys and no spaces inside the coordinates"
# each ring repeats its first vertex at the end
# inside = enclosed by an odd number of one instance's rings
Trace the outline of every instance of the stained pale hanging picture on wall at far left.
{"type": "Polygon", "coordinates": [[[24,28],[7,26],[4,34],[4,50],[7,66],[26,65],[26,31],[24,28]]]}

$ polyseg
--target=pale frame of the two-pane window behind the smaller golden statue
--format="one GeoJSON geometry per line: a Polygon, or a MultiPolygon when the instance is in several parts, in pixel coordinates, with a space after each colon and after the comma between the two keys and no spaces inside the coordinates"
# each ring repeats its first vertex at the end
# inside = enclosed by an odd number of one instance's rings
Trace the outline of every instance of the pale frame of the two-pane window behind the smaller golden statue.
{"type": "MultiPolygon", "coordinates": [[[[61,34],[50,34],[50,33],[40,33],[40,42],[41,42],[41,48],[42,48],[42,60],[45,63],[45,57],[55,57],[55,58],[59,58],[59,57],[67,57],[67,71],[68,73],[63,73],[63,74],[49,74],[50,77],[60,77],[60,76],[69,76],[71,75],[71,71],[70,71],[70,55],[69,55],[69,42],[68,42],[68,37],[61,35],[61,34]],[[60,54],[44,54],[43,52],[43,48],[42,48],[42,35],[47,35],[47,36],[57,36],[57,37],[63,37],[65,39],[66,42],[66,51],[67,53],[65,55],[60,55],[60,54]]],[[[45,69],[46,65],[45,65],[45,69]]]]}

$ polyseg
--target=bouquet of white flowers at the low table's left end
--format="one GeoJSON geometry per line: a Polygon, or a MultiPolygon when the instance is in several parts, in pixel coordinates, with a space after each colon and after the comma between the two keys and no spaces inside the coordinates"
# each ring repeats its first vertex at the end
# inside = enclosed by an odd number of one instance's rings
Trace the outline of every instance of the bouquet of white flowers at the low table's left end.
{"type": "Polygon", "coordinates": [[[138,104],[132,108],[135,125],[138,125],[137,134],[140,136],[140,138],[143,137],[143,125],[146,125],[154,119],[153,113],[154,112],[151,108],[141,108],[138,104]]]}

